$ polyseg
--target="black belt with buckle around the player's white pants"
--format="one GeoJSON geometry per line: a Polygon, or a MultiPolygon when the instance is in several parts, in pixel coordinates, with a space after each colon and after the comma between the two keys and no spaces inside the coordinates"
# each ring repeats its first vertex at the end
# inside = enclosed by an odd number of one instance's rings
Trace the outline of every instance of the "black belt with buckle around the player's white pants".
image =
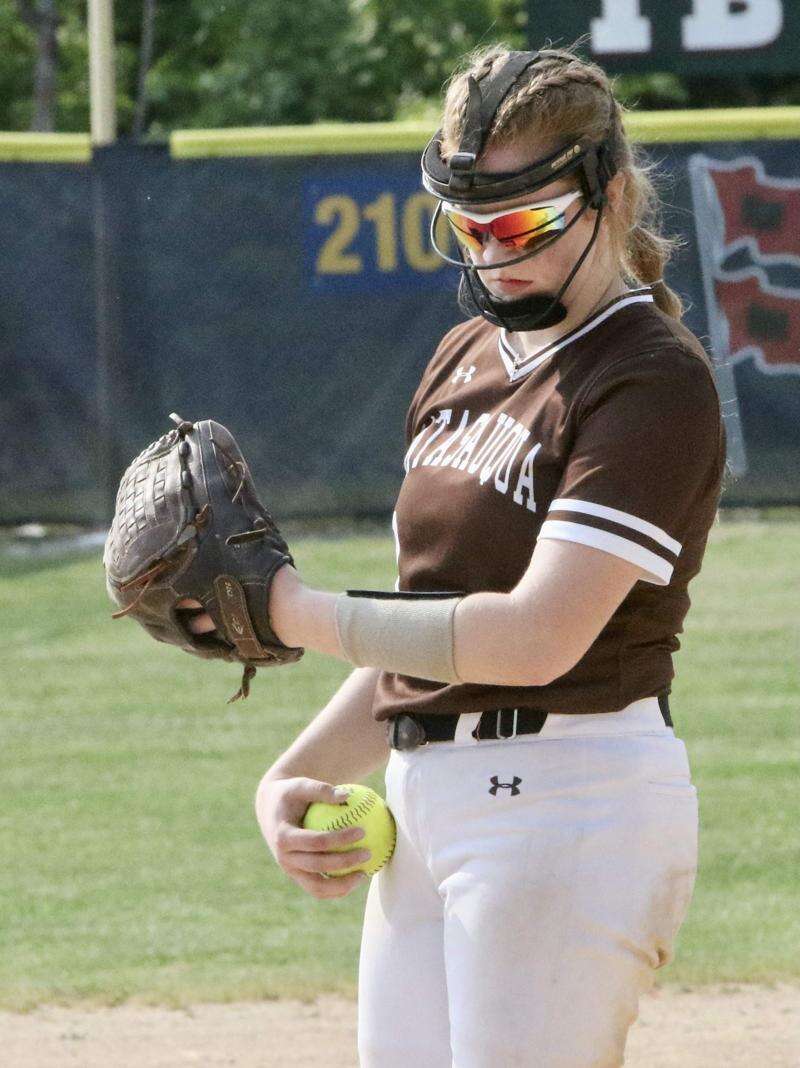
{"type": "MultiPolygon", "coordinates": [[[[672,726],[670,716],[670,698],[665,693],[658,695],[658,707],[668,727],[672,726]]],[[[498,739],[516,738],[517,735],[538,734],[547,720],[547,712],[538,708],[491,708],[481,712],[477,726],[472,737],[479,741],[497,741],[498,739]]],[[[388,723],[389,744],[392,749],[417,749],[432,741],[452,741],[460,716],[414,716],[401,712],[393,716],[388,723]]]]}

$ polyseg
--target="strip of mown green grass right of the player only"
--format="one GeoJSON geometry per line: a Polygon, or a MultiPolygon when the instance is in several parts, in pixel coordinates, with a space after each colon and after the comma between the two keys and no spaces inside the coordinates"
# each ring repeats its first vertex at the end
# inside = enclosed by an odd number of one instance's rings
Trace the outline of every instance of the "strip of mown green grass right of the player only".
{"type": "Polygon", "coordinates": [[[690,587],[672,702],[701,800],[684,981],[800,978],[800,523],[727,522],[690,587]]]}

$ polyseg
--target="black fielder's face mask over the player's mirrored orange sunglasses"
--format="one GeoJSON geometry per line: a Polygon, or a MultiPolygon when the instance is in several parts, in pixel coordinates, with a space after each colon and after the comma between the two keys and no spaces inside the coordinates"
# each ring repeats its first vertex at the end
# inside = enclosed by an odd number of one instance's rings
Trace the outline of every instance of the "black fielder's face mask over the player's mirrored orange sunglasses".
{"type": "Polygon", "coordinates": [[[461,269],[459,299],[470,314],[479,313],[496,326],[507,330],[542,330],[556,326],[567,314],[562,297],[597,239],[606,205],[606,187],[616,172],[611,132],[600,142],[580,138],[559,148],[547,159],[509,173],[481,173],[477,159],[483,152],[498,108],[529,67],[543,52],[511,52],[496,74],[479,80],[468,79],[469,98],[458,152],[449,162],[441,158],[442,131],[432,138],[422,156],[422,183],[439,201],[430,221],[430,239],[439,255],[461,269]],[[535,193],[560,178],[575,174],[580,190],[565,197],[536,200],[535,193]],[[506,211],[482,213],[482,204],[531,194],[531,202],[506,211]],[[568,204],[582,198],[583,203],[569,222],[568,204]],[[568,200],[569,199],[569,200],[568,200]],[[499,300],[481,280],[482,270],[497,270],[538,255],[567,233],[589,209],[596,211],[595,225],[586,247],[569,271],[564,284],[553,296],[534,294],[518,300],[499,300]],[[436,224],[444,214],[458,242],[460,258],[455,260],[439,247],[436,224]],[[509,251],[520,255],[490,264],[473,264],[469,252],[477,252],[491,234],[509,251]],[[461,251],[464,250],[464,251],[461,251]]]}

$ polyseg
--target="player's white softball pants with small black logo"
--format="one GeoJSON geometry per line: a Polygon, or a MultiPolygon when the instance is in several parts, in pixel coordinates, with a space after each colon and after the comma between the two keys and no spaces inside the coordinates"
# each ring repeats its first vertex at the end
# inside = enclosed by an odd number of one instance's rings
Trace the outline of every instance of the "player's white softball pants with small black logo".
{"type": "Polygon", "coordinates": [[[362,1068],[617,1068],[694,885],[697,801],[655,698],[392,751],[362,1068]]]}

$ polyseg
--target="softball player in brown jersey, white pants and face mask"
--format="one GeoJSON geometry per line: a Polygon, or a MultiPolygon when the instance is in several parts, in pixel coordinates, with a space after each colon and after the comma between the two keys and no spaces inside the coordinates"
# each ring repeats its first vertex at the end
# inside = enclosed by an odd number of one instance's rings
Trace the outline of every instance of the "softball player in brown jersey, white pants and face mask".
{"type": "Polygon", "coordinates": [[[482,53],[423,179],[474,315],[408,411],[397,592],[276,578],[281,639],[358,666],[256,810],[292,878],[347,894],[358,875],[325,876],[359,832],[302,815],[389,756],[398,841],[366,901],[365,1068],[611,1068],[695,875],[668,694],[719,500],[719,398],[597,66],[482,53]]]}

